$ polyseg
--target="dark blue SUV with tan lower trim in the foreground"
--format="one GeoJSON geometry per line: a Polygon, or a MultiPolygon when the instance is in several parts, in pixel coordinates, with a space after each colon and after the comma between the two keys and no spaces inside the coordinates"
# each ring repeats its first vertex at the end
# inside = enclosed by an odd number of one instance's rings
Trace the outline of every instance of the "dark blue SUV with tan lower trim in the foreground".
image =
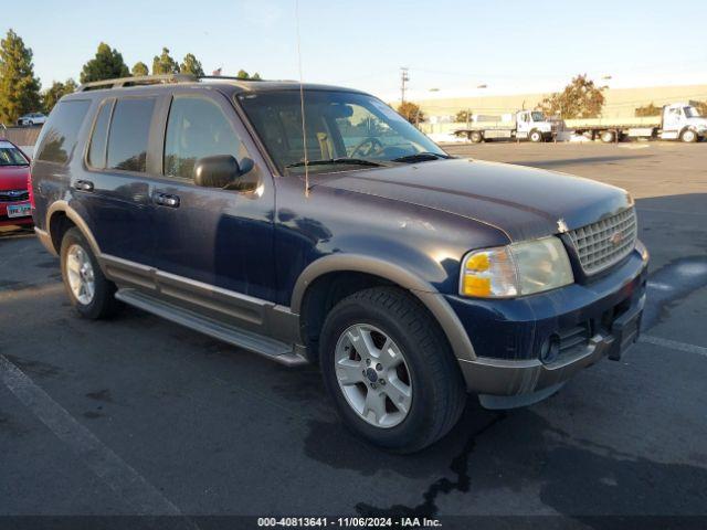
{"type": "Polygon", "coordinates": [[[82,317],[125,303],[318,362],[345,422],[394,451],[443,436],[467,392],[534,403],[639,333],[648,256],[625,191],[455,159],[360,92],[83,85],[32,178],[82,317]]]}

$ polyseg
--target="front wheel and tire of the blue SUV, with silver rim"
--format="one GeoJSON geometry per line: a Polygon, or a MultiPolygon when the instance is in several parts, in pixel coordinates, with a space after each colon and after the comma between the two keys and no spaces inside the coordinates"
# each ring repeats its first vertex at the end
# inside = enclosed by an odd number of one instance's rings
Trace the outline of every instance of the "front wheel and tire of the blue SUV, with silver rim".
{"type": "Polygon", "coordinates": [[[321,329],[319,362],[324,383],[344,423],[368,442],[397,453],[413,453],[440,439],[457,422],[466,402],[457,361],[441,328],[430,321],[430,315],[410,294],[376,287],[337,304],[321,329]],[[350,337],[363,337],[366,331],[357,335],[361,329],[369,330],[370,350],[352,347],[350,337]],[[391,339],[391,346],[382,348],[386,339],[391,339]],[[349,348],[341,348],[342,344],[349,348]],[[398,365],[394,371],[379,371],[378,361],[388,363],[384,351],[391,349],[397,354],[388,359],[398,365]],[[376,351],[380,357],[370,356],[376,351]],[[346,357],[337,357],[341,353],[346,357]],[[372,361],[370,365],[367,358],[372,361]],[[347,371],[341,375],[344,370],[347,371]],[[379,377],[378,383],[373,382],[379,377]],[[355,382],[359,378],[360,382],[355,382]],[[403,402],[400,388],[407,388],[410,398],[407,411],[392,401],[403,402]],[[376,396],[383,396],[378,398],[382,400],[382,414],[372,410],[366,414],[369,392],[372,402],[376,396]]]}

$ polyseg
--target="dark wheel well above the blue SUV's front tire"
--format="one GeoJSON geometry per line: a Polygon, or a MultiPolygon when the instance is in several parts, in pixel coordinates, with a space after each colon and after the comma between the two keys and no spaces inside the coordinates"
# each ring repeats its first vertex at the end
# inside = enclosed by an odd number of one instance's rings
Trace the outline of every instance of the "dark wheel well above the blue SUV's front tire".
{"type": "Polygon", "coordinates": [[[302,300],[299,319],[299,333],[310,361],[319,356],[319,333],[331,308],[354,293],[380,286],[400,287],[383,277],[350,271],[324,274],[312,283],[302,300]]]}

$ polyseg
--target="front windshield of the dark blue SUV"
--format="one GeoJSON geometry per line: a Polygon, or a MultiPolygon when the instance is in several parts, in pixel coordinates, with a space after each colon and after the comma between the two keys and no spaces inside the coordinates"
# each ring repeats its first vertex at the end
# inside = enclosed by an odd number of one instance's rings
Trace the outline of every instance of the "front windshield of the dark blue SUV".
{"type": "MultiPolygon", "coordinates": [[[[304,171],[299,91],[245,94],[239,99],[279,171],[304,171]]],[[[372,96],[306,91],[304,107],[307,161],[316,162],[312,171],[447,158],[432,140],[372,96]]]]}

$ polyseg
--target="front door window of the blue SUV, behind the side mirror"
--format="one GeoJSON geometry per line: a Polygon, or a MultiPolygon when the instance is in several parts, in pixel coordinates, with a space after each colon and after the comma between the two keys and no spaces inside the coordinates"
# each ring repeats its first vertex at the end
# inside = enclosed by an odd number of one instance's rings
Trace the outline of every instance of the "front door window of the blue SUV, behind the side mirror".
{"type": "Polygon", "coordinates": [[[165,138],[165,174],[191,180],[198,159],[246,151],[221,107],[203,97],[175,97],[165,138]]]}

